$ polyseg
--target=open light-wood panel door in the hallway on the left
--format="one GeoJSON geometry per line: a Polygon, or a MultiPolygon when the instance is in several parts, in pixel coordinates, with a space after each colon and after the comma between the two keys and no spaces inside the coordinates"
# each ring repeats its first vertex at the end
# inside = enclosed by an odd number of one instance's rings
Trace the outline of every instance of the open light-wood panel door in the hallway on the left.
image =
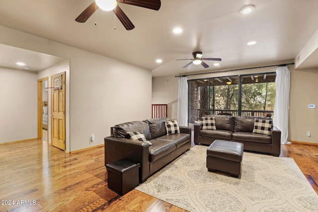
{"type": "Polygon", "coordinates": [[[65,72],[51,76],[52,113],[51,141],[52,145],[65,150],[65,72]]]}

